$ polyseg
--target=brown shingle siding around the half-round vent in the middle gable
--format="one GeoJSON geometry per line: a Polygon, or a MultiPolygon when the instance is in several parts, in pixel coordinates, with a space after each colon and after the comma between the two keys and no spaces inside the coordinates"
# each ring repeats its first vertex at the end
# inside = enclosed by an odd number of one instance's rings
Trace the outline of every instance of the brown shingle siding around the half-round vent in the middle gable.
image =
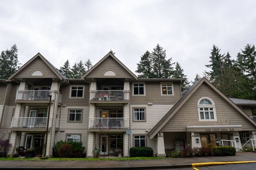
{"type": "Polygon", "coordinates": [[[113,69],[116,71],[116,78],[132,78],[132,76],[112,57],[106,58],[102,63],[100,63],[91,73],[89,73],[87,78],[97,78],[104,77],[103,72],[107,69],[113,69]]]}

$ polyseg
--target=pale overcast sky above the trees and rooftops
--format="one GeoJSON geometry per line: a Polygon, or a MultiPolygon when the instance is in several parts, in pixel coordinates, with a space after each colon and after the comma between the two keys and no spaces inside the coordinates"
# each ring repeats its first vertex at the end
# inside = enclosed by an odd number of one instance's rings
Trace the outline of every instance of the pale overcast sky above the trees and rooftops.
{"type": "Polygon", "coordinates": [[[158,43],[192,80],[213,44],[233,58],[256,44],[256,0],[0,0],[0,50],[16,44],[22,64],[37,52],[96,64],[112,49],[135,73],[158,43]]]}

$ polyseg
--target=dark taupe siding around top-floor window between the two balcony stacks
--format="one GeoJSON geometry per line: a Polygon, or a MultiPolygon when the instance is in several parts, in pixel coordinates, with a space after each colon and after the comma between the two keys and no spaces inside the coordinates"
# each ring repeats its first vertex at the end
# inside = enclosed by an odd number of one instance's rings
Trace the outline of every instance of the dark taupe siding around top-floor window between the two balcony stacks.
{"type": "Polygon", "coordinates": [[[89,106],[89,84],[86,82],[70,82],[62,87],[62,103],[66,106],[89,106]],[[69,98],[70,86],[85,86],[84,98],[69,98]]]}

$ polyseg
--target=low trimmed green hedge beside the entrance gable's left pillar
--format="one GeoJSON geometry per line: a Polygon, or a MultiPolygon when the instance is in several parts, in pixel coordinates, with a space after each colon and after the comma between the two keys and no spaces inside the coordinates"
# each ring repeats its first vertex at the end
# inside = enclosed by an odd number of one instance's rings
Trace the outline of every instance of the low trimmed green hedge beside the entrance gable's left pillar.
{"type": "Polygon", "coordinates": [[[152,157],[154,151],[151,147],[131,147],[129,150],[130,157],[152,157]]]}

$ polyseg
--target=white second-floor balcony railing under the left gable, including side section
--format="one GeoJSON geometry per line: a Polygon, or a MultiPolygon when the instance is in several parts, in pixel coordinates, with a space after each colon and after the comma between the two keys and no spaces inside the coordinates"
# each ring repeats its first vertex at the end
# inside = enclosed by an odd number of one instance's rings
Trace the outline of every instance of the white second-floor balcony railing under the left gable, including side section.
{"type": "MultiPolygon", "coordinates": [[[[49,119],[49,128],[52,127],[52,118],[49,119]]],[[[11,128],[39,128],[46,129],[47,118],[38,117],[13,117],[11,128]]],[[[60,128],[60,119],[56,119],[55,128],[60,128]]]]}

